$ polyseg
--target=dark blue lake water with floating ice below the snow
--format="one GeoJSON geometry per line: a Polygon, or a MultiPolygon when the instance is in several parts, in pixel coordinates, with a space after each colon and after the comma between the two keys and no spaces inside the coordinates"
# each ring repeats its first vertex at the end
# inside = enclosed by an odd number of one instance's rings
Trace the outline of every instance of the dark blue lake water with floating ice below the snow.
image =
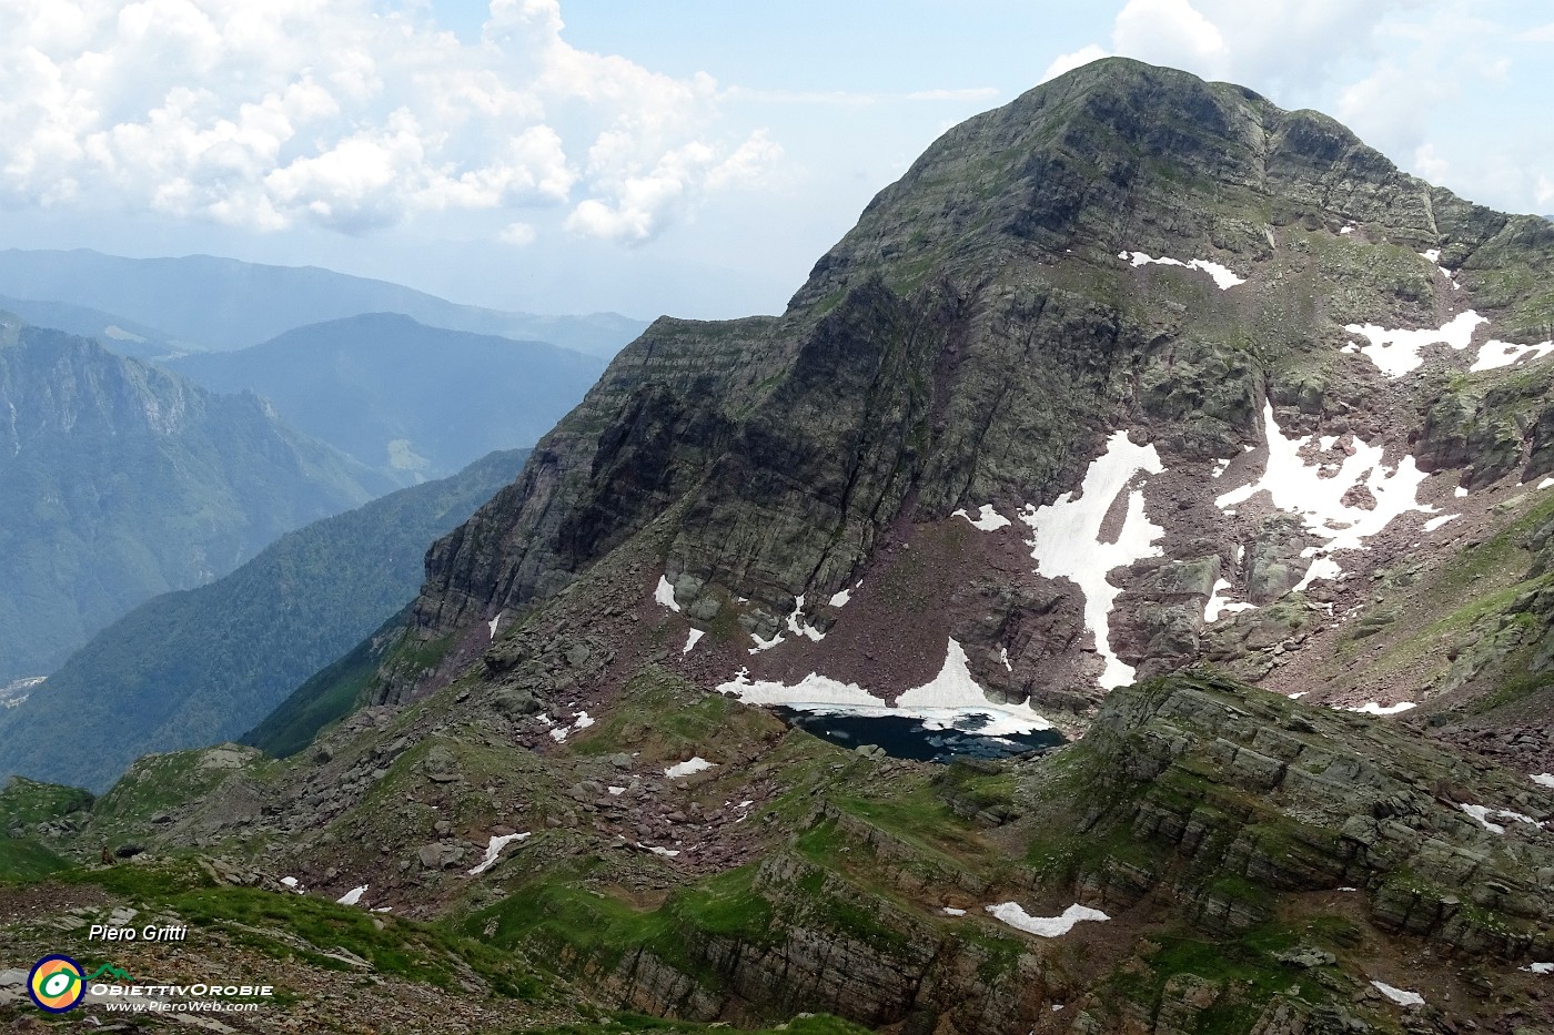
{"type": "Polygon", "coordinates": [[[777,706],[777,716],[821,740],[841,748],[878,744],[887,755],[917,761],[948,763],[956,755],[974,758],[1012,758],[1032,751],[1047,751],[1064,743],[1055,729],[1032,734],[1001,734],[988,737],[976,729],[985,724],[979,716],[963,716],[957,729],[928,729],[923,720],[903,715],[847,715],[799,712],[777,706]]]}

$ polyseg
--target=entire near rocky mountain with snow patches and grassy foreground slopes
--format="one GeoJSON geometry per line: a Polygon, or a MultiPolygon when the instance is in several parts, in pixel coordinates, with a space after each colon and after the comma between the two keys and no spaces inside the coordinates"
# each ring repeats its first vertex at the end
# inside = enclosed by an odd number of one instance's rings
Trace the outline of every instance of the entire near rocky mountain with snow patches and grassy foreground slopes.
{"type": "Polygon", "coordinates": [[[1551,1032],[1551,337],[1549,222],[1094,62],[653,323],[311,746],[6,788],[0,931],[230,1030],[1551,1032]]]}

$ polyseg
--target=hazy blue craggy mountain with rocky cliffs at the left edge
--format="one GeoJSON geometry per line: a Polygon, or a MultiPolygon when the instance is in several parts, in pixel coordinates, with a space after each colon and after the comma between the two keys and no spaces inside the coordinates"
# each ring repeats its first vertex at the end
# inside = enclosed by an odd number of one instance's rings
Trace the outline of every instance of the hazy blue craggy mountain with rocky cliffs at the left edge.
{"type": "Polygon", "coordinates": [[[0,679],[390,488],[256,396],[14,319],[0,334],[0,679]]]}

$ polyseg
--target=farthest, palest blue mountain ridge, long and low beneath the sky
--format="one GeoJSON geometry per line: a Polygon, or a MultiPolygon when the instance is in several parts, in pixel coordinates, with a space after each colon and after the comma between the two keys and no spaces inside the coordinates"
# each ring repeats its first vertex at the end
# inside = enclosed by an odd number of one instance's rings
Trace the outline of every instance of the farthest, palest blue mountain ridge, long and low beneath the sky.
{"type": "Polygon", "coordinates": [[[315,266],[211,255],[134,260],[85,249],[0,250],[0,295],[115,312],[214,350],[247,348],[309,323],[401,312],[430,326],[544,340],[608,359],[646,326],[615,312],[535,315],[465,306],[315,266]]]}

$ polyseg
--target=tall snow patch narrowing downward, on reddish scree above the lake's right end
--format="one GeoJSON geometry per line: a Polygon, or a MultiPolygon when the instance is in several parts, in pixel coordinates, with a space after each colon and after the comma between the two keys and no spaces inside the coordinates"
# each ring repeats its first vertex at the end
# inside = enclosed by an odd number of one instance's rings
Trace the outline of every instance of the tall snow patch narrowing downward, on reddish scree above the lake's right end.
{"type": "Polygon", "coordinates": [[[1106,667],[1100,685],[1113,690],[1133,682],[1133,667],[1111,651],[1111,608],[1119,586],[1106,575],[1116,567],[1134,564],[1147,556],[1159,556],[1156,539],[1166,530],[1152,524],[1144,513],[1144,490],[1128,490],[1139,474],[1164,471],[1153,443],[1134,446],[1128,432],[1119,430],[1106,440],[1106,452],[1091,462],[1080,486],[1080,497],[1064,493],[1047,507],[1026,507],[1019,519],[1030,525],[1030,555],[1037,573],[1068,578],[1085,591],[1085,628],[1096,636],[1096,653],[1106,667]],[[1113,502],[1127,493],[1127,516],[1113,542],[1102,542],[1100,527],[1113,502]]]}

